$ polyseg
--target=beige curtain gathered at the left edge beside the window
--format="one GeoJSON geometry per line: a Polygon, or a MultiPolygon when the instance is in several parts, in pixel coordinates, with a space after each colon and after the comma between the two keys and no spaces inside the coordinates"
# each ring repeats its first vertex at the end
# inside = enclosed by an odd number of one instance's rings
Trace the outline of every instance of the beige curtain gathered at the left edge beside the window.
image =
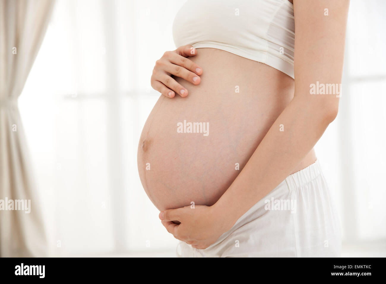
{"type": "Polygon", "coordinates": [[[54,0],[0,0],[0,257],[47,256],[41,205],[17,98],[41,46],[53,5],[54,0]],[[23,200],[27,207],[15,210],[15,202],[13,210],[8,210],[15,200],[23,200]]]}

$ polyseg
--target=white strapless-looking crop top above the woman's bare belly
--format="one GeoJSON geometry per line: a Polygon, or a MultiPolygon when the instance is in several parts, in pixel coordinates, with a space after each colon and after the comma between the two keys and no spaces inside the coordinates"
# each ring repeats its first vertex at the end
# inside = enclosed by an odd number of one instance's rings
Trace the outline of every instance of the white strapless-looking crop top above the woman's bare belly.
{"type": "Polygon", "coordinates": [[[176,47],[217,48],[294,78],[295,21],[288,0],[187,0],[173,23],[176,47]]]}

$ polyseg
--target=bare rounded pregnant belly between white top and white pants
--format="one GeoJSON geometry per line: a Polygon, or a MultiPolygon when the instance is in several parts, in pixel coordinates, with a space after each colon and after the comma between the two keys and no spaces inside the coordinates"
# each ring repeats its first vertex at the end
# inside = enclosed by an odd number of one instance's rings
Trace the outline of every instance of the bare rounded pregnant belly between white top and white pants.
{"type": "Polygon", "coordinates": [[[188,96],[161,96],[139,141],[141,182],[159,210],[214,204],[293,98],[294,80],[270,66],[212,48],[190,59],[203,68],[200,84],[177,78],[188,96]]]}

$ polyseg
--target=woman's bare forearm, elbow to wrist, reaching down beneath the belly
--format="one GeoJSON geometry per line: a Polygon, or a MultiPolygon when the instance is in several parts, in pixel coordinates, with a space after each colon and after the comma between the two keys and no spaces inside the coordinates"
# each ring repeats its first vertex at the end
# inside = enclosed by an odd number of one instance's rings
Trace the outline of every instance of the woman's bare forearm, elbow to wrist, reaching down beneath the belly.
{"type": "Polygon", "coordinates": [[[290,175],[334,118],[334,112],[312,106],[307,100],[295,96],[232,185],[213,206],[220,215],[226,216],[227,224],[233,225],[290,175]],[[283,124],[284,131],[280,131],[280,124],[283,124]]]}

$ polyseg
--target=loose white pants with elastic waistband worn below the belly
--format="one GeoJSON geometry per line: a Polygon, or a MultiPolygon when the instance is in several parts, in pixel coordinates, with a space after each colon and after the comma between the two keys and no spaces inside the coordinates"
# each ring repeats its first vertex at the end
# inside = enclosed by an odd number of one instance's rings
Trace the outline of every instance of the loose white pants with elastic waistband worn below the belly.
{"type": "Polygon", "coordinates": [[[289,175],[205,250],[178,257],[340,257],[339,218],[316,161],[289,175]]]}

